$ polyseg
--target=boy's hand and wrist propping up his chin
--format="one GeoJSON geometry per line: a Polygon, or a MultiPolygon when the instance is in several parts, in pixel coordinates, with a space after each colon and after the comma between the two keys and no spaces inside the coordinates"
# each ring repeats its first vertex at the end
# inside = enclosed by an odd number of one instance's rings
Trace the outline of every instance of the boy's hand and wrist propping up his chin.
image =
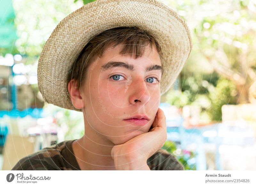
{"type": "Polygon", "coordinates": [[[166,118],[160,108],[151,127],[147,133],[112,148],[111,156],[116,170],[150,170],[148,158],[163,147],[167,139],[166,118]]]}

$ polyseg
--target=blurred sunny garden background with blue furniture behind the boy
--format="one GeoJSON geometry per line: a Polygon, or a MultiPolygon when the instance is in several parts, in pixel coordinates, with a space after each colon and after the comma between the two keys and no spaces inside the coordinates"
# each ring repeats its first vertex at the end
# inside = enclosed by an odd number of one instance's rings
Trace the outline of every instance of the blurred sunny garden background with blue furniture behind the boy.
{"type": "MultiPolygon", "coordinates": [[[[159,0],[187,22],[193,50],[161,97],[162,147],[186,170],[256,170],[256,0],[159,0]]],[[[83,114],[44,103],[40,52],[90,0],[0,0],[0,170],[84,134],[83,114]]]]}

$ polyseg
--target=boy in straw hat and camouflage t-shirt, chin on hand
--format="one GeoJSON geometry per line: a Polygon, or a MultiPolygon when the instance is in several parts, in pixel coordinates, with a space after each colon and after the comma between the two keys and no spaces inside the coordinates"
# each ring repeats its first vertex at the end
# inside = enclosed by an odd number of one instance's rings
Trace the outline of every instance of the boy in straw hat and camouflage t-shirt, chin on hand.
{"type": "Polygon", "coordinates": [[[84,136],[12,170],[184,170],[161,149],[158,106],[191,47],[186,23],[157,1],[98,0],[67,16],[39,58],[38,87],[46,102],[83,112],[84,136]]]}

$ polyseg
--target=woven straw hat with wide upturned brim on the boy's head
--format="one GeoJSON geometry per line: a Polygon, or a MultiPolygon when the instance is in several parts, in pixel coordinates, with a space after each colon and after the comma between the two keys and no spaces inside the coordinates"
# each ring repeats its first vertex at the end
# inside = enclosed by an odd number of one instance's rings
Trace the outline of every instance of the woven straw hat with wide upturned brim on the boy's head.
{"type": "Polygon", "coordinates": [[[76,57],[96,34],[119,26],[138,26],[153,33],[163,52],[161,95],[167,92],[191,52],[186,22],[156,0],[98,0],[69,14],[53,30],[38,61],[38,88],[47,103],[76,111],[67,87],[76,57]]]}

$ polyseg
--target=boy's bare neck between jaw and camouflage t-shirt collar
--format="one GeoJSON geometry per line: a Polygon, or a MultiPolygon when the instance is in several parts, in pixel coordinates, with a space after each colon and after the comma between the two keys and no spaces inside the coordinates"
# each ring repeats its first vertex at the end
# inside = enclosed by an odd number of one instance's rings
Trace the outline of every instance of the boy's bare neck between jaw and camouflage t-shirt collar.
{"type": "Polygon", "coordinates": [[[111,150],[115,144],[85,123],[84,136],[73,143],[81,170],[115,170],[111,150]]]}

